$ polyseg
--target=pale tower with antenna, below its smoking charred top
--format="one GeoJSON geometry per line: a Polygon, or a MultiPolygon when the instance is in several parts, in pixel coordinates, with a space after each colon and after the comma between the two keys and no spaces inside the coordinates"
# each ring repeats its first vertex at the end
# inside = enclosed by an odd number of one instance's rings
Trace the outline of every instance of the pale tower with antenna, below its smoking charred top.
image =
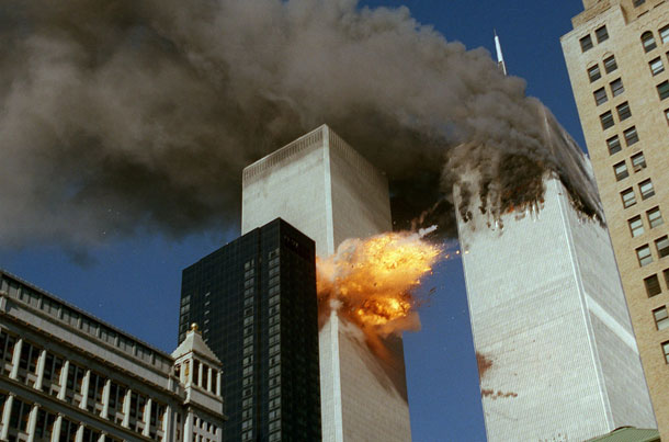
{"type": "Polygon", "coordinates": [[[488,440],[656,428],[609,233],[545,188],[537,212],[458,218],[488,440]]]}

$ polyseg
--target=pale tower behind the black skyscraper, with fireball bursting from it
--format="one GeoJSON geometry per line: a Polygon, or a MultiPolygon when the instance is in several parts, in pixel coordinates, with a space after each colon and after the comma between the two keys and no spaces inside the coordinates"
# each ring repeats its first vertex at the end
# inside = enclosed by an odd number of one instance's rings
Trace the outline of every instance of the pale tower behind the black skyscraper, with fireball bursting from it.
{"type": "MultiPolygon", "coordinates": [[[[386,178],[326,125],[247,167],[242,185],[242,235],[281,217],[327,257],[392,230],[386,178]]],[[[324,441],[411,440],[401,339],[384,343],[382,360],[336,313],[320,328],[324,441]]]]}

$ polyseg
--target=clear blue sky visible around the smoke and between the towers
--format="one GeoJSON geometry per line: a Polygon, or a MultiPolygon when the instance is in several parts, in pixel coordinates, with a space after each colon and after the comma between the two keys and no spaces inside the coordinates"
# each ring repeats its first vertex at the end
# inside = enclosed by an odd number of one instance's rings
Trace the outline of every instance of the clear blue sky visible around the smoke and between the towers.
{"type": "MultiPolygon", "coordinates": [[[[510,75],[528,81],[583,146],[559,37],[582,10],[577,0],[364,1],[407,5],[422,24],[467,48],[494,50],[501,38],[510,75]]],[[[181,270],[235,238],[207,231],[180,240],[151,231],[90,250],[92,262],[72,262],[52,246],[0,249],[0,267],[91,311],[165,351],[177,345],[181,270]]],[[[436,287],[421,309],[422,330],[405,335],[413,440],[483,441],[485,429],[462,262],[442,262],[423,291],[436,287]]]]}

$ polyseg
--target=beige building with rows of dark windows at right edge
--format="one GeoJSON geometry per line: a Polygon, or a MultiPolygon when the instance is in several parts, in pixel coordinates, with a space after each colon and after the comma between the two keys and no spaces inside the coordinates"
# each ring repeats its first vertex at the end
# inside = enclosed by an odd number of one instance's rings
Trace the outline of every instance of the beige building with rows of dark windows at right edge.
{"type": "Polygon", "coordinates": [[[669,439],[669,2],[583,5],[563,50],[658,428],[669,439]]]}

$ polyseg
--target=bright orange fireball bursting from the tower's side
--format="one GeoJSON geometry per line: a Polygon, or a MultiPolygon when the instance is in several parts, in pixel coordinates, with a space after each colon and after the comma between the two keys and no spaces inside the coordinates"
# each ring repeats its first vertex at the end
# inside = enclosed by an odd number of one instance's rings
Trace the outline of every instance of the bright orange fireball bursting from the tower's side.
{"type": "Polygon", "coordinates": [[[411,295],[429,274],[441,249],[421,233],[387,233],[367,239],[348,239],[337,252],[317,261],[317,287],[322,308],[379,335],[419,329],[411,295]]]}

